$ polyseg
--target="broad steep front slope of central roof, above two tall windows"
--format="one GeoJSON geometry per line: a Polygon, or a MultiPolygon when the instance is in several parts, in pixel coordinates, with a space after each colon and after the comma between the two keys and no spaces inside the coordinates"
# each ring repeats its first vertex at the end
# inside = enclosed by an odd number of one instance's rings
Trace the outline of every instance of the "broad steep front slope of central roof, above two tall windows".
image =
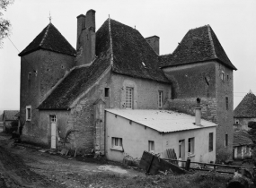
{"type": "Polygon", "coordinates": [[[153,81],[170,82],[159,69],[158,56],[146,39],[119,21],[110,20],[113,72],[153,81]]]}

